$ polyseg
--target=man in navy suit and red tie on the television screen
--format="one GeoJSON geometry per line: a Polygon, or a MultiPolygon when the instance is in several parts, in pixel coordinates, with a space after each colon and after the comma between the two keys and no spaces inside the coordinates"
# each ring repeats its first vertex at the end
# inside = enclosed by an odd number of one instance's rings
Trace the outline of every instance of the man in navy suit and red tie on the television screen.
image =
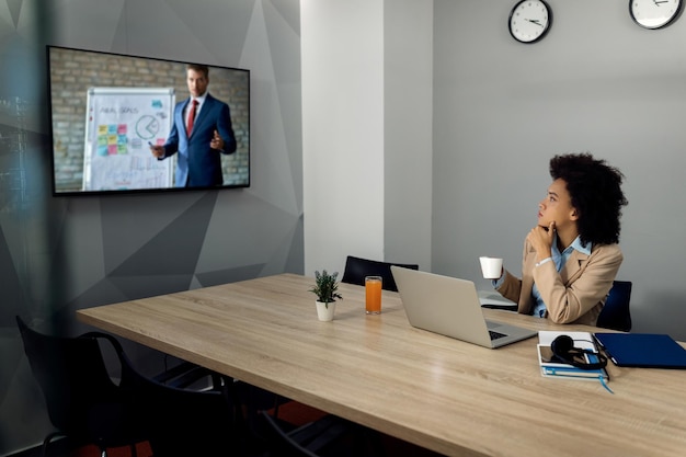
{"type": "Polygon", "coordinates": [[[174,122],[164,146],[150,146],[158,160],[179,152],[176,187],[210,187],[221,185],[220,153],[236,151],[229,105],[207,91],[209,68],[191,64],[186,67],[191,96],[174,107],[174,122]]]}

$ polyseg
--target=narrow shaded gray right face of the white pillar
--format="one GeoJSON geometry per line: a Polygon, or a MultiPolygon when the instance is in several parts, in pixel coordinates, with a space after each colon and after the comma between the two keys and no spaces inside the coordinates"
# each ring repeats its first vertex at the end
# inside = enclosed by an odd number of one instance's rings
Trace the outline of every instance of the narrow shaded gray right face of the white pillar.
{"type": "Polygon", "coordinates": [[[421,270],[432,264],[433,13],[428,1],[384,2],[384,253],[421,270]]]}

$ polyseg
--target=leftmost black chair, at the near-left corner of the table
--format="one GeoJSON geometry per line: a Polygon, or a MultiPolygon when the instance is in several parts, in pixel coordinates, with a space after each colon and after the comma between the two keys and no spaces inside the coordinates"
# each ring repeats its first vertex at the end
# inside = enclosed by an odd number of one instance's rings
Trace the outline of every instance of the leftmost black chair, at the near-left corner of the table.
{"type": "Polygon", "coordinates": [[[43,441],[41,456],[58,436],[75,444],[94,444],[102,456],[107,448],[129,445],[135,456],[135,445],[145,437],[135,425],[132,397],[110,377],[99,343],[106,341],[123,354],[119,342],[100,332],[78,338],[46,335],[30,329],[19,316],[16,323],[50,422],[57,429],[43,441]]]}

